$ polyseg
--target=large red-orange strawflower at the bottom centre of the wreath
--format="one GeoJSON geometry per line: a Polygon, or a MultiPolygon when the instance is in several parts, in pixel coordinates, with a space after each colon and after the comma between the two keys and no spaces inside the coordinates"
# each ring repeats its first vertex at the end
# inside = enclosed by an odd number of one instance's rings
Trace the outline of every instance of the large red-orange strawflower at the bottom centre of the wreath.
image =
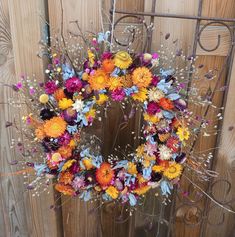
{"type": "Polygon", "coordinates": [[[104,162],[100,168],[96,170],[96,180],[101,186],[107,186],[112,182],[114,171],[111,165],[104,162]]]}

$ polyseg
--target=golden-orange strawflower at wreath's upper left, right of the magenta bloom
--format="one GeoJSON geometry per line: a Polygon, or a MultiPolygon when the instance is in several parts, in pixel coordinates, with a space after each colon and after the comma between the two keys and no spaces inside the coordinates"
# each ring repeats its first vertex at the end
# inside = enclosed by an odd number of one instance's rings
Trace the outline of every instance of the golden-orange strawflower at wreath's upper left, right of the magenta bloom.
{"type": "Polygon", "coordinates": [[[88,82],[93,90],[102,90],[107,86],[108,76],[103,70],[98,69],[89,76],[88,82]]]}

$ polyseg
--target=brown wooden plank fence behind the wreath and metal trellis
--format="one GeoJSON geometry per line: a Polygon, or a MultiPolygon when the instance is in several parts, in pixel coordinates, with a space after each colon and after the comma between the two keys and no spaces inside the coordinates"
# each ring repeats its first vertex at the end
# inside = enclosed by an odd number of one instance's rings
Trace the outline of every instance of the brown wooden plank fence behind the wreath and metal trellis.
{"type": "MultiPolygon", "coordinates": [[[[1,0],[0,1],[0,82],[15,83],[23,73],[30,77],[34,76],[38,81],[44,78],[44,62],[37,57],[39,41],[45,39],[47,27],[45,21],[50,24],[50,34],[60,32],[61,17],[63,16],[63,31],[76,32],[71,21],[78,20],[82,30],[98,32],[101,30],[100,5],[109,14],[111,7],[109,0],[1,0]],[[62,5],[61,5],[62,3],[62,5]],[[61,14],[63,6],[63,14],[61,14]]],[[[172,14],[195,15],[197,12],[198,0],[159,0],[156,11],[172,14]]],[[[117,9],[129,11],[150,11],[151,0],[117,0],[117,9]]],[[[234,0],[204,0],[204,16],[235,18],[234,0]]],[[[146,19],[146,21],[148,21],[146,19]]],[[[107,26],[107,21],[104,22],[107,26]]],[[[128,25],[130,22],[125,22],[128,25]]],[[[156,18],[153,34],[152,51],[157,50],[161,44],[162,36],[171,33],[171,40],[178,39],[185,52],[193,44],[195,21],[156,18]]],[[[203,25],[203,21],[202,21],[203,25]]],[[[229,37],[226,28],[223,26],[213,26],[208,28],[203,34],[203,43],[213,46],[217,43],[218,32],[221,34],[221,44],[213,52],[206,52],[198,47],[198,63],[205,65],[205,72],[210,68],[220,70],[227,54],[229,37]]],[[[227,74],[224,73],[220,81],[221,87],[225,85],[227,74]]],[[[198,87],[213,88],[215,81],[207,85],[198,87]]],[[[220,144],[217,152],[214,169],[220,173],[220,178],[232,183],[229,193],[224,182],[218,183],[214,196],[218,200],[230,200],[235,196],[235,62],[231,70],[229,87],[224,92],[217,93],[215,103],[218,106],[226,102],[223,122],[220,126],[220,136],[200,137],[198,150],[205,150],[220,144]]],[[[8,98],[12,91],[0,87],[0,237],[94,237],[94,236],[122,236],[122,237],[144,237],[156,236],[156,232],[147,231],[145,220],[140,215],[133,215],[124,223],[114,221],[115,210],[112,204],[106,205],[102,210],[94,211],[95,203],[83,203],[78,199],[67,199],[53,191],[53,187],[45,195],[37,197],[24,192],[23,175],[15,172],[11,166],[11,161],[18,158],[18,154],[10,149],[12,139],[15,134],[12,130],[5,128],[6,121],[19,119],[18,109],[7,105],[8,98]],[[13,174],[12,174],[13,173],[13,174]],[[55,200],[63,204],[56,210],[50,209],[55,200]],[[91,211],[92,210],[92,211],[91,211]],[[99,220],[99,221],[98,221],[99,220]]],[[[209,114],[209,117],[212,116],[209,114]]],[[[111,117],[112,118],[112,117],[111,117]]],[[[217,122],[214,123],[217,125],[217,122]]],[[[186,183],[183,180],[183,183],[186,183]]],[[[205,208],[204,200],[201,210],[205,208]]],[[[177,200],[176,208],[181,205],[177,200]]],[[[231,204],[232,205],[232,204],[231,204]]],[[[234,205],[234,204],[233,204],[234,205]]],[[[233,206],[234,207],[234,206],[233,206]]],[[[190,221],[199,218],[195,208],[190,210],[179,209],[176,212],[173,236],[177,237],[232,237],[235,236],[234,216],[224,214],[217,208],[210,222],[219,223],[223,219],[222,225],[208,225],[208,216],[202,216],[197,225],[187,225],[186,219],[190,221]],[[204,225],[204,233],[202,233],[204,225]],[[201,235],[200,235],[201,234],[201,235]]],[[[164,236],[164,235],[162,235],[164,236]]]]}

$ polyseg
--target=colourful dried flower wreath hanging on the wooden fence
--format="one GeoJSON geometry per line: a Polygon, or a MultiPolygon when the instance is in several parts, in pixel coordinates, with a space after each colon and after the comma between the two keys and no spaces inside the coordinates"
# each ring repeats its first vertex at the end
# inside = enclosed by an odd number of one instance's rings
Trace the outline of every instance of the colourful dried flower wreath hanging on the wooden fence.
{"type": "Polygon", "coordinates": [[[45,83],[22,78],[15,85],[30,105],[23,120],[41,151],[41,160],[27,165],[39,179],[55,178],[55,189],[65,195],[135,206],[153,188],[169,195],[180,180],[189,111],[180,78],[174,68],[159,66],[159,54],[111,52],[102,50],[104,43],[92,39],[79,71],[65,53],[51,52],[45,83]],[[97,138],[86,133],[111,101],[141,111],[143,139],[125,157],[104,157],[97,138]]]}

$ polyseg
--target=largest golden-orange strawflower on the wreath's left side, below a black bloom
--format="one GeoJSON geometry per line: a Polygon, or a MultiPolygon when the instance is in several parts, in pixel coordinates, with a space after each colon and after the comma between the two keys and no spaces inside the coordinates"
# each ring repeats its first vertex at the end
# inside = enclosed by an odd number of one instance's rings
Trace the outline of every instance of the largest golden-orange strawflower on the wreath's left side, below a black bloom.
{"type": "Polygon", "coordinates": [[[61,117],[53,117],[50,120],[47,120],[44,124],[44,132],[48,137],[59,137],[61,136],[65,129],[67,123],[61,117]]]}

